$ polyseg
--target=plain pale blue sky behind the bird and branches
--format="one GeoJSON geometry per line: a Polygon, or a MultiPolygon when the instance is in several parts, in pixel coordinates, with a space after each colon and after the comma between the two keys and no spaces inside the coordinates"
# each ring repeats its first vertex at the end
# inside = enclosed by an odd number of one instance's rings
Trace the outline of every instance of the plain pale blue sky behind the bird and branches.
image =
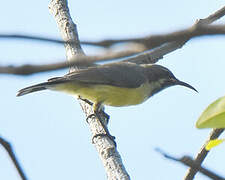
{"type": "MultiPolygon", "coordinates": [[[[4,1],[0,7],[0,33],[27,33],[60,38],[48,1],[4,1]]],[[[222,1],[69,1],[81,40],[131,38],[166,33],[191,26],[222,6],[222,1]]],[[[218,23],[224,23],[221,19],[218,23]]],[[[171,87],[147,102],[131,107],[106,107],[109,130],[132,179],[182,179],[186,167],[162,158],[159,147],[173,155],[194,156],[210,132],[198,130],[201,112],[224,96],[223,36],[195,38],[166,55],[168,67],[199,93],[171,87]]],[[[87,54],[99,48],[83,47],[87,54]]],[[[31,41],[0,41],[0,63],[43,64],[65,58],[63,46],[31,41]]],[[[101,161],[78,102],[63,93],[43,91],[21,98],[19,89],[67,70],[27,77],[1,75],[0,135],[12,142],[28,177],[38,179],[106,179],[101,161]]],[[[224,135],[223,135],[224,137],[224,135]]],[[[225,176],[225,145],[210,152],[204,165],[225,176]]],[[[17,180],[7,153],[0,148],[0,179],[17,180]]],[[[198,175],[196,179],[207,179],[198,175]]]]}

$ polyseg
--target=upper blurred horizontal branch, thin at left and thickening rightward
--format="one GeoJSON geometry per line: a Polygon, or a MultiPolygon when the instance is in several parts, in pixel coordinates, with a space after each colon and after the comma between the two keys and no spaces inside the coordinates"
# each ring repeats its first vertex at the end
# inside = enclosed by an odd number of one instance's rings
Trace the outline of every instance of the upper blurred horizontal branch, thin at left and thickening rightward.
{"type": "MultiPolygon", "coordinates": [[[[203,21],[200,20],[202,23],[203,21]]],[[[209,23],[211,21],[204,20],[205,23],[209,23]]],[[[198,25],[199,26],[199,25],[198,25]]],[[[100,46],[104,48],[109,48],[114,44],[117,43],[139,43],[146,47],[146,49],[152,49],[158,47],[164,43],[178,41],[182,39],[190,39],[199,36],[206,36],[206,35],[221,35],[225,34],[225,26],[224,25],[205,25],[196,29],[193,27],[175,31],[172,33],[167,34],[159,34],[159,35],[148,35],[141,38],[128,38],[128,39],[108,39],[102,41],[81,41],[83,45],[92,45],[92,46],[100,46]]],[[[43,42],[51,42],[57,44],[68,43],[72,44],[73,41],[62,41],[59,39],[41,37],[41,36],[31,36],[31,35],[23,35],[23,34],[0,34],[0,38],[4,39],[25,39],[25,40],[37,40],[43,42]]]]}

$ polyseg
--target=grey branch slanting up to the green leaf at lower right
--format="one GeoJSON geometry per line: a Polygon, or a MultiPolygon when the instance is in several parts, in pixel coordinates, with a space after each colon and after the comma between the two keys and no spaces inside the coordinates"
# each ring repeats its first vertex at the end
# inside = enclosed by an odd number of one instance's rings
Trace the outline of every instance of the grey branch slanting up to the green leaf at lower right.
{"type": "MultiPolygon", "coordinates": [[[[216,139],[220,136],[220,134],[222,134],[222,132],[224,131],[224,129],[213,129],[212,132],[209,135],[208,140],[204,143],[204,145],[201,147],[200,151],[197,153],[197,156],[194,159],[194,162],[196,163],[197,166],[201,166],[202,162],[204,161],[204,159],[206,158],[207,154],[209,153],[209,151],[207,151],[205,149],[205,146],[208,144],[208,142],[210,140],[216,139]]],[[[194,179],[194,176],[196,175],[196,173],[198,172],[198,169],[195,167],[191,167],[188,169],[184,180],[192,180],[194,179]]]]}

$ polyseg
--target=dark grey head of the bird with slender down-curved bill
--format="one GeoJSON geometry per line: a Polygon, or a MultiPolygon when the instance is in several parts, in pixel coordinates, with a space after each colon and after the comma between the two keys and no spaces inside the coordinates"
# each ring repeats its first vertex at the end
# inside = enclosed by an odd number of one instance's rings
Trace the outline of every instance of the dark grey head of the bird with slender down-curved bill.
{"type": "Polygon", "coordinates": [[[196,92],[198,92],[193,86],[190,84],[178,80],[173,73],[160,65],[153,64],[153,65],[144,65],[145,69],[145,74],[147,75],[148,82],[150,84],[154,84],[154,89],[151,92],[151,95],[167,88],[170,86],[175,86],[175,85],[181,85],[185,86],[187,88],[190,88],[196,92]]]}

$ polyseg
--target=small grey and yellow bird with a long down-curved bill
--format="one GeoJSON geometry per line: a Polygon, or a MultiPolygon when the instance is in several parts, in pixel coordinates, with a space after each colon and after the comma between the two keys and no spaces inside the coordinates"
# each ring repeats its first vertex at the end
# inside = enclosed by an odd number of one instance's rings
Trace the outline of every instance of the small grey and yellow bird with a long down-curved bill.
{"type": "Polygon", "coordinates": [[[62,77],[21,89],[17,96],[48,89],[81,97],[93,104],[94,114],[106,134],[111,136],[99,116],[104,105],[121,107],[141,104],[154,94],[175,85],[197,92],[193,86],[178,80],[161,65],[117,62],[77,69],[62,77]]]}

